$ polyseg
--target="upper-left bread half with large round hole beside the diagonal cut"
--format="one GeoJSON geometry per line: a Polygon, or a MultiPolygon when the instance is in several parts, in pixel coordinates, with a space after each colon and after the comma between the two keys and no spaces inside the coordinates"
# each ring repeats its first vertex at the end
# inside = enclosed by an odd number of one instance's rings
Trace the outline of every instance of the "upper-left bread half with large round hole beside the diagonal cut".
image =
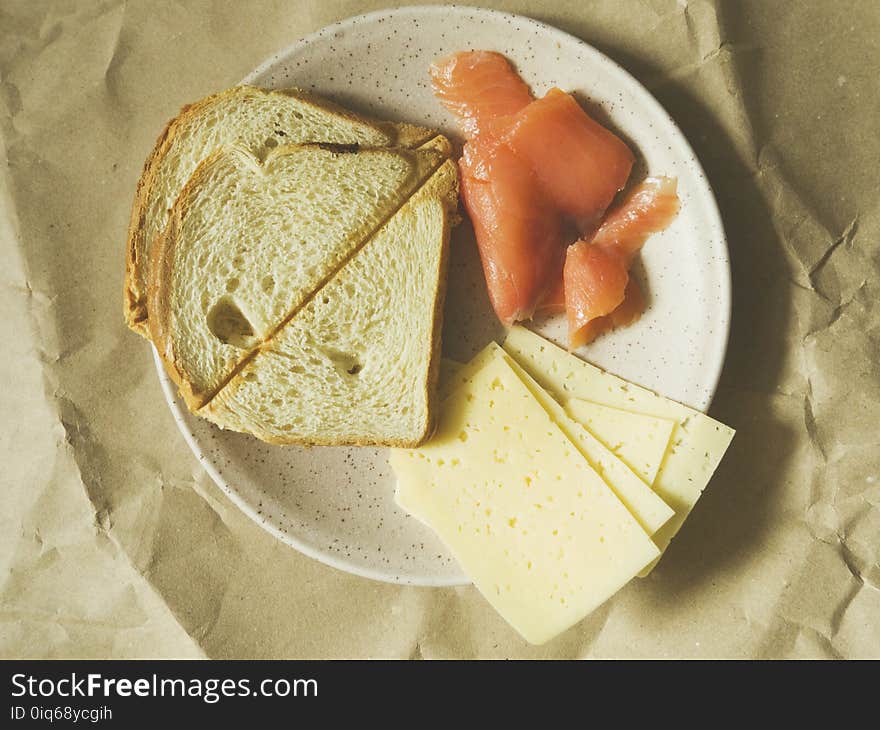
{"type": "Polygon", "coordinates": [[[444,160],[435,150],[222,148],[151,252],[150,335],[196,410],[444,160]]]}

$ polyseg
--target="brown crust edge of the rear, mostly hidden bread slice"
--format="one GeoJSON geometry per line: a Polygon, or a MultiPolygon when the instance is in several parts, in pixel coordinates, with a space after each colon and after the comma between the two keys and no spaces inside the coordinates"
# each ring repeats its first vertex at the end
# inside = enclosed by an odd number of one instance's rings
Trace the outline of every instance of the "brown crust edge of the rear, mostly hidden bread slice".
{"type": "MultiPolygon", "coordinates": [[[[304,103],[313,105],[316,109],[328,111],[352,122],[369,126],[376,131],[382,131],[387,136],[388,146],[415,148],[430,140],[436,135],[433,130],[419,127],[413,124],[401,124],[394,122],[379,122],[366,116],[355,114],[331,101],[322,99],[317,94],[302,89],[290,88],[280,90],[259,89],[253,86],[235,86],[225,91],[207,96],[192,104],[183,106],[177,116],[169,120],[156,140],[153,150],[144,162],[141,175],[135,188],[134,202],[132,204],[126,240],[126,263],[125,263],[125,287],[123,297],[123,313],[125,322],[130,329],[138,334],[149,338],[148,293],[146,275],[143,272],[145,264],[149,263],[150,251],[155,241],[145,241],[146,231],[144,225],[150,196],[153,193],[156,170],[162,159],[168,154],[171,145],[179,130],[191,119],[201,114],[207,107],[216,104],[229,96],[237,93],[253,92],[268,95],[294,97],[304,103]]],[[[320,140],[315,140],[320,141],[320,140]]],[[[448,152],[446,153],[448,154],[448,152]]],[[[159,235],[161,237],[161,234],[159,235]]],[[[158,237],[157,237],[158,238],[158,237]]]]}

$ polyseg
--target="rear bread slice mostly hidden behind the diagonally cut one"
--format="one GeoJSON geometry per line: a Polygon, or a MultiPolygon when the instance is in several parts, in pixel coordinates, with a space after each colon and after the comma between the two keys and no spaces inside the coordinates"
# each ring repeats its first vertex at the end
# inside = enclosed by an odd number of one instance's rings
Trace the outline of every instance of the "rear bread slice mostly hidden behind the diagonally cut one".
{"type": "Polygon", "coordinates": [[[174,201],[196,167],[214,150],[238,145],[258,159],[274,147],[304,142],[415,148],[435,132],[412,124],[356,116],[299,89],[237,86],[185,106],[144,164],[128,231],[124,313],[146,335],[150,250],[164,231],[174,201]]]}

